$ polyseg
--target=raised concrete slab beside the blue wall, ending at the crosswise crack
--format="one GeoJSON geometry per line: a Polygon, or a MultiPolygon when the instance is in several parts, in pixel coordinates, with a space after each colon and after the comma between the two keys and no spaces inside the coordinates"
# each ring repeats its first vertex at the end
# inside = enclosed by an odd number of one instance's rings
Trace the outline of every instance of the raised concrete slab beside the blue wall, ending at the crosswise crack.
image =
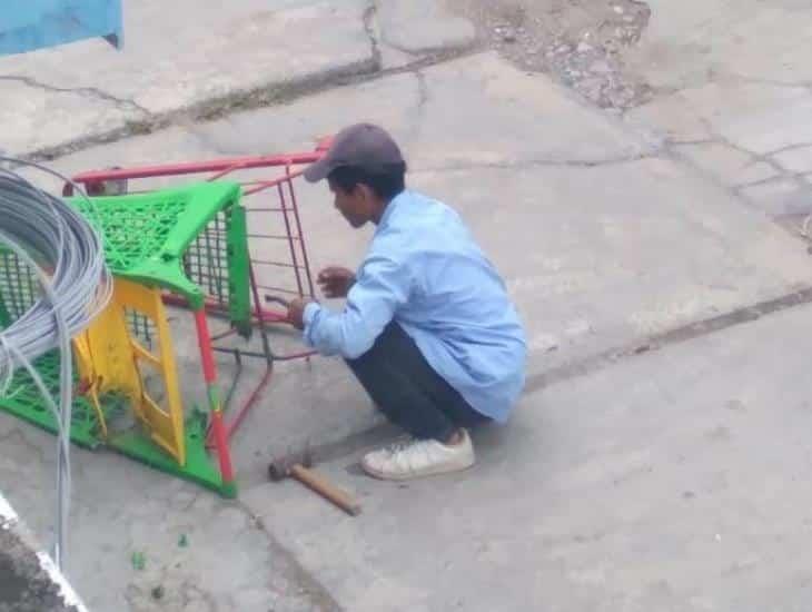
{"type": "Polygon", "coordinates": [[[13,126],[4,130],[2,147],[14,155],[60,148],[191,107],[217,101],[227,108],[258,89],[375,71],[379,60],[365,23],[370,6],[368,0],[128,4],[122,51],[91,40],[0,59],[0,75],[27,79],[0,81],[14,102],[0,111],[0,125],[13,126]],[[313,32],[319,32],[317,45],[306,36],[313,32]],[[80,106],[78,97],[90,100],[80,106]],[[52,113],[57,106],[67,108],[52,113]],[[38,129],[27,129],[31,121],[38,129]]]}

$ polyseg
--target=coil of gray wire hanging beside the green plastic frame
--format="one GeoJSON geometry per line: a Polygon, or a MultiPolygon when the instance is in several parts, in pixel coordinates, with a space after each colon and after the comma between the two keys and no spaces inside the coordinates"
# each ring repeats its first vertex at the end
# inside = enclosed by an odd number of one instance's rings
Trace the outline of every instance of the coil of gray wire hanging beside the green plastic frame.
{"type": "MultiPolygon", "coordinates": [[[[38,164],[0,157],[65,177],[38,164]]],[[[79,189],[80,194],[83,194],[79,189]]],[[[90,201],[90,200],[88,200],[90,201]]],[[[70,423],[72,355],[70,340],[105,308],[112,293],[102,240],[90,223],[65,200],[20,175],[0,168],[0,246],[11,250],[39,280],[42,294],[0,332],[0,394],[8,393],[14,372],[23,367],[39,388],[58,424],[57,521],[55,561],[62,565],[70,502],[70,423]],[[51,396],[32,362],[59,349],[60,393],[51,396]]]]}

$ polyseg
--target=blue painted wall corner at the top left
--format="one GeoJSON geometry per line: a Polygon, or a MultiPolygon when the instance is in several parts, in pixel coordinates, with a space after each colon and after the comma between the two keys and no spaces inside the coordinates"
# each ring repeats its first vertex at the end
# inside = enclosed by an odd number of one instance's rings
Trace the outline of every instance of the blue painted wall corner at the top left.
{"type": "Polygon", "coordinates": [[[121,47],[121,0],[0,0],[0,55],[96,37],[121,47]]]}

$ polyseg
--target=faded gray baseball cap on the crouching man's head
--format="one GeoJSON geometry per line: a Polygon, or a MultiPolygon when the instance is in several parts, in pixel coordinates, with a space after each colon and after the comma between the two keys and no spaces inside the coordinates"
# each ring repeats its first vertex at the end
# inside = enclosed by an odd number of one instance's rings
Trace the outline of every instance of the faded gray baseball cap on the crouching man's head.
{"type": "Polygon", "coordinates": [[[404,164],[404,159],[392,136],[378,126],[356,124],[336,135],[325,156],[307,167],[305,178],[318,182],[343,166],[374,174],[395,164],[404,164]]]}

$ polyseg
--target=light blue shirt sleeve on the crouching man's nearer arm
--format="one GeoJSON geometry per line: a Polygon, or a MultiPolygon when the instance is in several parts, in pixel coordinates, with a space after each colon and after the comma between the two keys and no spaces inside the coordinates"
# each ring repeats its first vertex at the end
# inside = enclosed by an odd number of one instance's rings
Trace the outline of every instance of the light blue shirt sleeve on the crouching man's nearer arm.
{"type": "Polygon", "coordinates": [[[318,304],[305,308],[305,342],[323,355],[360,357],[392,322],[412,292],[412,277],[403,264],[372,256],[347,295],[344,310],[333,313],[318,304]]]}

